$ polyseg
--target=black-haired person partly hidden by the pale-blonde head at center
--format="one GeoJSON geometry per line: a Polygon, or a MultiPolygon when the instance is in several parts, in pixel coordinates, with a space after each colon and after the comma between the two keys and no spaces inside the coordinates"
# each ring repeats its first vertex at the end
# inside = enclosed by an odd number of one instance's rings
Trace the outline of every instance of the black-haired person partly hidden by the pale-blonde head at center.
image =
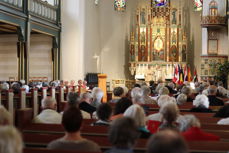
{"type": "Polygon", "coordinates": [[[132,101],[128,98],[121,98],[116,104],[114,108],[113,116],[111,120],[115,120],[117,118],[123,117],[123,113],[132,105],[132,101]]]}

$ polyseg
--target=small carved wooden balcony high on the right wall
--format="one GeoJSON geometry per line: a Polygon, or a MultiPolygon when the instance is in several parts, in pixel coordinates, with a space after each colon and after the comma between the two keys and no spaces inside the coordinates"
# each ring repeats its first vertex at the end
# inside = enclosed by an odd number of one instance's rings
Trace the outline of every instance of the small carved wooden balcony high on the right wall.
{"type": "Polygon", "coordinates": [[[219,28],[227,25],[225,16],[203,16],[201,20],[202,27],[219,28]]]}

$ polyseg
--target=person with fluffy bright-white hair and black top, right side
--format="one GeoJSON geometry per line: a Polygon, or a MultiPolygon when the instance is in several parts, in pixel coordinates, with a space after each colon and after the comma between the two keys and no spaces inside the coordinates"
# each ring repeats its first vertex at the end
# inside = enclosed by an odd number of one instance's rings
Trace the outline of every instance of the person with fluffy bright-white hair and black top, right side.
{"type": "Polygon", "coordinates": [[[193,100],[193,106],[190,112],[212,112],[212,110],[209,109],[208,97],[204,94],[196,96],[195,100],[193,100]]]}

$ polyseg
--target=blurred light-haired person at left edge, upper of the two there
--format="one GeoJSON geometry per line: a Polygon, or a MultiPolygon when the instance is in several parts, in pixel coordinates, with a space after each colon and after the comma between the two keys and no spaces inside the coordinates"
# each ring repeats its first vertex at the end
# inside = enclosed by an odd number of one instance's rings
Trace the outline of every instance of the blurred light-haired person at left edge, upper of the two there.
{"type": "Polygon", "coordinates": [[[12,115],[0,105],[0,126],[12,125],[12,115]]]}

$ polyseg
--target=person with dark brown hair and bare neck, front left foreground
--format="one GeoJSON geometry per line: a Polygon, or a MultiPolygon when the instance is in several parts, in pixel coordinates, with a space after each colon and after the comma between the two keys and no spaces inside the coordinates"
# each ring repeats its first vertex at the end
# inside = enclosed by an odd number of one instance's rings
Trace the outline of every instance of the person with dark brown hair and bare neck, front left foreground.
{"type": "Polygon", "coordinates": [[[62,138],[50,142],[48,149],[60,150],[77,150],[88,152],[100,152],[100,147],[85,138],[80,134],[83,117],[77,107],[68,108],[62,117],[62,125],[65,130],[65,135],[62,138]]]}

